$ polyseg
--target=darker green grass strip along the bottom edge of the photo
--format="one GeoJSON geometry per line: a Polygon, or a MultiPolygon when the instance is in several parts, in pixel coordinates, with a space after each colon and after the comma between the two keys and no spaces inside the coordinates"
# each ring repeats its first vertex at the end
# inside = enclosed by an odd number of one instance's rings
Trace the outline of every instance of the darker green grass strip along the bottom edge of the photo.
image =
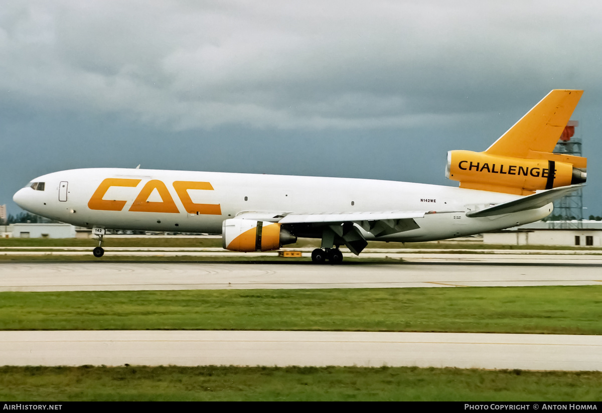
{"type": "Polygon", "coordinates": [[[602,372],[412,367],[0,367],[0,400],[602,400],[602,372]]]}

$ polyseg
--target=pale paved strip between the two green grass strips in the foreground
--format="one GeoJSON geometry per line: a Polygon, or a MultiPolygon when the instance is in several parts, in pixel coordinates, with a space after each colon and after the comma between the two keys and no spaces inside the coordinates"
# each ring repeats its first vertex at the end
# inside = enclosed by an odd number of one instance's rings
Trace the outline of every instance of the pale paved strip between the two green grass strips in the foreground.
{"type": "Polygon", "coordinates": [[[602,336],[306,331],[5,331],[0,365],[602,370],[602,336]]]}

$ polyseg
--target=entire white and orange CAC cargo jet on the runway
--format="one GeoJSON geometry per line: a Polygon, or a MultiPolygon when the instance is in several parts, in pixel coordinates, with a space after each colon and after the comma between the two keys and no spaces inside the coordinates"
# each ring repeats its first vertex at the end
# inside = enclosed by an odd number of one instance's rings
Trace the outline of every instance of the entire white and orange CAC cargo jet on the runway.
{"type": "Polygon", "coordinates": [[[431,241],[548,216],[581,187],[586,158],[552,154],[582,90],[553,90],[484,152],[450,151],[459,187],[372,179],[144,169],[75,169],[14,194],[23,209],[93,229],[221,233],[223,247],[267,251],[320,238],[314,262],[341,262],[367,241],[431,241]]]}

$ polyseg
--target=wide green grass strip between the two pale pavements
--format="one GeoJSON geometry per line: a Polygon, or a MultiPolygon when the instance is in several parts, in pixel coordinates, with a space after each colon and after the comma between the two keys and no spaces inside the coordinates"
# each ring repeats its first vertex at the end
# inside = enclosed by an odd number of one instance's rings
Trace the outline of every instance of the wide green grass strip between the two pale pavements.
{"type": "Polygon", "coordinates": [[[1,330],[602,334],[602,286],[0,293],[1,330]]]}

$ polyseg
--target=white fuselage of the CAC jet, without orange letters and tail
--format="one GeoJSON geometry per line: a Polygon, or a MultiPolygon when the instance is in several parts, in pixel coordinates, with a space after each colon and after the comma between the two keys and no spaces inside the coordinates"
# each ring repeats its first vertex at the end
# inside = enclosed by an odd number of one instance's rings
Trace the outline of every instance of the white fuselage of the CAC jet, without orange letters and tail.
{"type": "Polygon", "coordinates": [[[551,204],[548,204],[520,213],[469,218],[465,216],[467,211],[518,199],[521,196],[373,179],[104,168],[49,173],[34,179],[33,182],[45,182],[44,190],[25,187],[13,198],[18,205],[31,213],[88,228],[141,231],[219,234],[222,232],[224,220],[242,213],[276,216],[287,213],[430,211],[431,213],[427,213],[423,218],[415,219],[420,228],[411,231],[375,238],[362,230],[367,240],[427,241],[479,234],[534,222],[544,218],[552,210],[551,204]],[[120,210],[91,209],[90,200],[95,194],[98,195],[99,186],[107,178],[138,183],[129,187],[111,186],[106,191],[101,191],[102,201],[125,202],[120,210]],[[172,211],[131,211],[134,209],[132,205],[137,198],[140,199],[141,190],[149,181],[160,181],[169,196],[165,192],[161,196],[154,190],[150,196],[144,197],[146,204],[160,205],[169,201],[170,205],[175,204],[172,211]],[[174,182],[182,181],[210,184],[210,188],[213,189],[188,189],[188,203],[213,205],[214,208],[219,205],[219,213],[199,214],[199,211],[187,211],[182,192],[178,192],[174,187],[174,182]]]}

